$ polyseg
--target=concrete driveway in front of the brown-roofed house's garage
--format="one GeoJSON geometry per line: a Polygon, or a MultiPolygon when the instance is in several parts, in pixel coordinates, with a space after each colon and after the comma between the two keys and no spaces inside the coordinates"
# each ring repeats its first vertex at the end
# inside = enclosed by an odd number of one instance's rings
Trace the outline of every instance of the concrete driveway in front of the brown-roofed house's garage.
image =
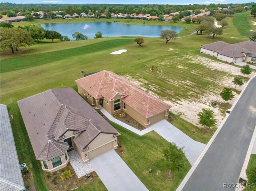
{"type": "Polygon", "coordinates": [[[114,150],[90,160],[90,164],[109,191],[148,190],[114,150]]]}

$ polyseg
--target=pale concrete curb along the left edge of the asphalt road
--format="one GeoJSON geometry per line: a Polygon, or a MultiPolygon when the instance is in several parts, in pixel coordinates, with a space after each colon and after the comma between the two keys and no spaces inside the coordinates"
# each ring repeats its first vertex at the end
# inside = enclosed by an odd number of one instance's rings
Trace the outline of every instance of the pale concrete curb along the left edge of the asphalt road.
{"type": "MultiPolygon", "coordinates": [[[[254,75],[253,77],[251,77],[248,82],[246,83],[244,89],[242,90],[242,92],[240,93],[240,95],[238,96],[238,98],[236,99],[236,101],[234,102],[234,104],[232,105],[232,107],[230,108],[230,110],[233,110],[233,108],[236,106],[236,103],[238,102],[238,100],[240,99],[240,97],[242,96],[242,94],[244,93],[246,87],[248,86],[248,84],[250,83],[250,81],[256,77],[256,75],[254,75]]],[[[180,183],[180,185],[178,186],[178,188],[176,189],[176,191],[181,191],[183,189],[183,187],[185,186],[185,184],[187,183],[188,179],[190,178],[190,176],[192,175],[192,173],[194,172],[194,170],[196,169],[196,167],[198,166],[198,164],[200,163],[200,161],[202,160],[202,158],[204,157],[204,155],[206,154],[207,150],[210,148],[212,142],[214,141],[214,139],[216,138],[216,136],[218,135],[218,133],[220,132],[223,124],[226,122],[226,120],[228,119],[229,115],[226,115],[225,118],[222,120],[220,126],[217,128],[216,132],[213,134],[212,138],[210,139],[210,141],[208,142],[208,144],[206,145],[206,147],[204,148],[204,150],[202,151],[202,153],[200,154],[200,156],[198,157],[198,159],[196,160],[196,162],[194,163],[194,165],[191,167],[191,169],[188,171],[188,173],[186,174],[186,176],[184,177],[184,179],[182,180],[182,182],[180,183]]],[[[255,132],[255,129],[254,129],[255,132]]]]}

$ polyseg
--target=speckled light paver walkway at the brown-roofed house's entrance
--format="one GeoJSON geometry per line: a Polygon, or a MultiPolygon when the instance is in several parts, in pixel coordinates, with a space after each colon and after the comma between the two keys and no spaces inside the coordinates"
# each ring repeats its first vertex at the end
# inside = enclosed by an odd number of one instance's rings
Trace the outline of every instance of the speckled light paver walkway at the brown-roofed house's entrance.
{"type": "Polygon", "coordinates": [[[84,163],[84,161],[80,158],[76,150],[72,150],[68,152],[68,156],[69,156],[70,164],[72,165],[78,178],[94,171],[94,169],[92,168],[92,165],[90,165],[90,162],[84,163]]]}

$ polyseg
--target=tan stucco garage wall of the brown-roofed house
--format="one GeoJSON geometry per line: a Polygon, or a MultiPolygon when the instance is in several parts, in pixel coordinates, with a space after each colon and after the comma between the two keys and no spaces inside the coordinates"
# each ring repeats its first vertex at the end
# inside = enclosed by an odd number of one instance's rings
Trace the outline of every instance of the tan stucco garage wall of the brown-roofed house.
{"type": "Polygon", "coordinates": [[[116,149],[118,147],[117,137],[114,138],[113,134],[101,133],[88,145],[88,148],[89,148],[88,150],[81,152],[80,150],[78,150],[78,148],[76,146],[74,146],[74,148],[78,152],[79,156],[83,159],[83,161],[88,162],[91,151],[94,151],[94,154],[95,154],[95,152],[97,153],[97,149],[99,148],[98,155],[96,155],[96,156],[99,156],[99,155],[103,154],[100,147],[102,147],[105,144],[108,144],[110,142],[112,142],[112,147],[110,149],[104,150],[104,153],[108,152],[109,150],[116,149]],[[85,154],[87,156],[85,156],[85,154]]]}

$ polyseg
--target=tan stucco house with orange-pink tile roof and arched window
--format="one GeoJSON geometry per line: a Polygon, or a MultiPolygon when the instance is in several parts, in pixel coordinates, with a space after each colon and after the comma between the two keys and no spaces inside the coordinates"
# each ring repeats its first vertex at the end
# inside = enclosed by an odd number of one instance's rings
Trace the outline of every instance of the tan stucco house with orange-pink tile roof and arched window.
{"type": "Polygon", "coordinates": [[[124,111],[146,128],[168,118],[170,105],[111,71],[94,73],[76,83],[78,93],[96,109],[101,105],[110,114],[124,111]]]}

